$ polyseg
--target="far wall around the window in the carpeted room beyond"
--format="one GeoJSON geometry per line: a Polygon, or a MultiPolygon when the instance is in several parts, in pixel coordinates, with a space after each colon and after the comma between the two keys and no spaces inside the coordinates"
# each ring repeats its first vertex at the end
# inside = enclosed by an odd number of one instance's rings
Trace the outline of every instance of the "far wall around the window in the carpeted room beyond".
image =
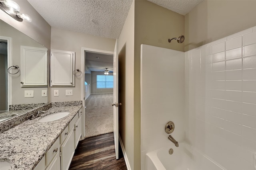
{"type": "MultiPolygon", "coordinates": [[[[91,93],[113,93],[113,88],[108,88],[108,89],[97,88],[97,75],[104,75],[104,72],[92,71],[91,73],[92,73],[91,93]]],[[[113,73],[110,72],[108,75],[113,75],[113,73]]]]}

